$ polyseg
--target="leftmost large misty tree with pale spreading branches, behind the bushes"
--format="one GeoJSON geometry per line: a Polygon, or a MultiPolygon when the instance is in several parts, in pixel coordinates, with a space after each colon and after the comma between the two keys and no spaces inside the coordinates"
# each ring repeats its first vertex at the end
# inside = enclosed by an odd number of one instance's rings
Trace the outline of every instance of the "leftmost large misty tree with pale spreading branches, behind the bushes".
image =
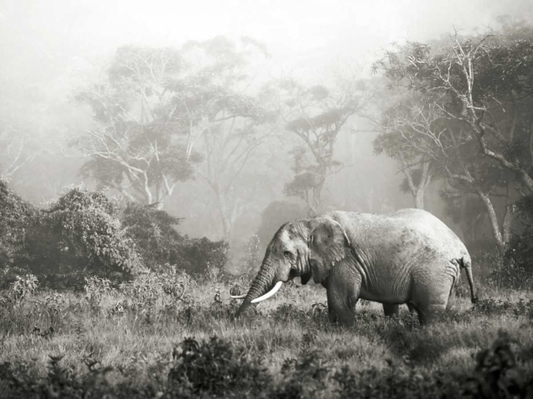
{"type": "Polygon", "coordinates": [[[174,115],[168,81],[185,70],[178,50],[124,46],[97,84],[77,93],[94,123],[72,145],[88,158],[82,175],[145,204],[163,202],[201,160],[186,144],[194,126],[174,115]]]}

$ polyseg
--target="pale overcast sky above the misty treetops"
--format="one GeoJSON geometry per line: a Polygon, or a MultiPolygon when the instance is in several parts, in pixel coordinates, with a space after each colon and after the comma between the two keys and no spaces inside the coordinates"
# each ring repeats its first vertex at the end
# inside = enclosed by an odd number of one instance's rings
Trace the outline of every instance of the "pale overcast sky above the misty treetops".
{"type": "Polygon", "coordinates": [[[248,35],[296,72],[366,63],[394,40],[472,31],[532,9],[533,0],[0,0],[0,50],[23,75],[54,60],[82,67],[126,43],[248,35]]]}

